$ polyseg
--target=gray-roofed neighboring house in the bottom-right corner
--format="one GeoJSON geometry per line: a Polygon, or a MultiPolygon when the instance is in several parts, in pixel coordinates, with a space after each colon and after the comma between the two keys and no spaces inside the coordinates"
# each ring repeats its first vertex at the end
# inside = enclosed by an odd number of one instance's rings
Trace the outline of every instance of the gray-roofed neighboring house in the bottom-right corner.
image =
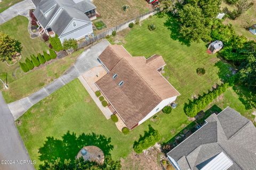
{"type": "Polygon", "coordinates": [[[256,169],[256,128],[250,120],[227,107],[205,122],[167,154],[175,169],[256,169]]]}

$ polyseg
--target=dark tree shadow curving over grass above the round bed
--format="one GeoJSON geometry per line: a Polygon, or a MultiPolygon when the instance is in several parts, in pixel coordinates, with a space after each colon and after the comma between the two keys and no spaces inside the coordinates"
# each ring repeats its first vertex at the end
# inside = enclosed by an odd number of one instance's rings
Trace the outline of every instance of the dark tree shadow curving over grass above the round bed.
{"type": "Polygon", "coordinates": [[[57,158],[60,158],[61,161],[65,159],[75,160],[79,150],[85,146],[97,146],[106,156],[110,155],[110,151],[114,148],[113,145],[110,145],[111,138],[95,133],[82,133],[77,137],[74,132],[70,133],[68,131],[62,136],[62,139],[53,137],[47,137],[46,139],[44,146],[39,148],[38,151],[40,154],[39,160],[41,161],[52,162],[57,158]]]}

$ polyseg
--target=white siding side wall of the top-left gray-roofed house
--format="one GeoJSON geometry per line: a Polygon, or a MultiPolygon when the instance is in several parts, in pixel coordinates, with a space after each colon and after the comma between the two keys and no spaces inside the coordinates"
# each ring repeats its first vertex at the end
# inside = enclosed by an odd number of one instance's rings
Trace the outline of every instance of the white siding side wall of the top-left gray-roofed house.
{"type": "Polygon", "coordinates": [[[75,32],[71,32],[68,35],[61,36],[59,38],[60,38],[61,43],[63,43],[63,41],[65,39],[74,38],[74,39],[78,40],[78,39],[84,38],[85,35],[90,35],[92,32],[93,32],[92,24],[89,24],[89,25],[87,25],[84,28],[81,28],[81,29],[79,29],[79,30],[77,30],[75,32]]]}

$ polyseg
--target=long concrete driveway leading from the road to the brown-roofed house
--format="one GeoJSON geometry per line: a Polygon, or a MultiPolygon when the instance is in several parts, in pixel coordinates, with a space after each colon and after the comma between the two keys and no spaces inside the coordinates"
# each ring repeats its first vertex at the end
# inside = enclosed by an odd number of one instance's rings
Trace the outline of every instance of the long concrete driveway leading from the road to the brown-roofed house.
{"type": "Polygon", "coordinates": [[[54,80],[52,83],[38,90],[34,94],[8,104],[14,120],[17,120],[21,115],[28,111],[30,107],[38,103],[38,101],[41,101],[65,84],[75,78],[78,78],[79,75],[82,75],[92,67],[100,65],[97,58],[108,45],[109,42],[107,40],[102,40],[100,43],[85,50],[85,52],[77,58],[74,66],[71,66],[70,69],[60,78],[54,80]]]}

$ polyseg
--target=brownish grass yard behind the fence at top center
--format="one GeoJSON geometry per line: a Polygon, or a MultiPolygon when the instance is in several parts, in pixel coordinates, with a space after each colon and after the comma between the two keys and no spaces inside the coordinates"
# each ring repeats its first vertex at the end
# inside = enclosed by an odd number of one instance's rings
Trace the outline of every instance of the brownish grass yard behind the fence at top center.
{"type": "Polygon", "coordinates": [[[101,20],[108,28],[121,24],[151,9],[151,6],[145,0],[94,0],[93,4],[97,7],[101,20]],[[124,12],[123,5],[129,5],[131,10],[124,12]]]}

